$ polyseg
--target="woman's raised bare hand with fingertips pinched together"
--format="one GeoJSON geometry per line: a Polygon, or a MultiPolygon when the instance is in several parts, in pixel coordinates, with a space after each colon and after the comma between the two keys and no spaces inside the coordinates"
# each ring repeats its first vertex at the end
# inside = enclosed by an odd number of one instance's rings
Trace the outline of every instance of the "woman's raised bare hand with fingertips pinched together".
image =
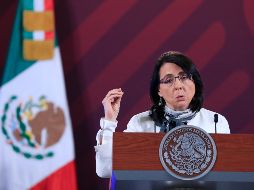
{"type": "Polygon", "coordinates": [[[120,110],[120,103],[123,96],[121,88],[110,90],[105,98],[102,100],[104,107],[105,119],[109,121],[116,121],[120,110]]]}

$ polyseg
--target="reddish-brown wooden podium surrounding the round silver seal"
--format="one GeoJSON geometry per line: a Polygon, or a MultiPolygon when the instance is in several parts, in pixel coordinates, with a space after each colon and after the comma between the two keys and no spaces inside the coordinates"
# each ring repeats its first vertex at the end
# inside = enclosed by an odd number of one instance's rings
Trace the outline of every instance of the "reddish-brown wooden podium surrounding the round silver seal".
{"type": "Polygon", "coordinates": [[[111,189],[115,190],[253,190],[254,134],[212,134],[217,158],[212,170],[197,180],[180,180],[160,163],[164,134],[113,135],[111,189]]]}

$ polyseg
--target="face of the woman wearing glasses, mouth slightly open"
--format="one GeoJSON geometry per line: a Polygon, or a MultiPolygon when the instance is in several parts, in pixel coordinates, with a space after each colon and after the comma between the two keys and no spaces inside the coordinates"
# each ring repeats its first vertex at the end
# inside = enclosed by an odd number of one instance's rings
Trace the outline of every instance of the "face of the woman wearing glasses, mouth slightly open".
{"type": "Polygon", "coordinates": [[[181,67],[174,63],[164,63],[160,68],[160,81],[172,81],[172,77],[183,76],[182,81],[174,78],[173,84],[160,83],[159,96],[164,98],[166,105],[173,110],[183,111],[189,107],[189,104],[195,94],[194,81],[184,77],[186,74],[181,67]]]}

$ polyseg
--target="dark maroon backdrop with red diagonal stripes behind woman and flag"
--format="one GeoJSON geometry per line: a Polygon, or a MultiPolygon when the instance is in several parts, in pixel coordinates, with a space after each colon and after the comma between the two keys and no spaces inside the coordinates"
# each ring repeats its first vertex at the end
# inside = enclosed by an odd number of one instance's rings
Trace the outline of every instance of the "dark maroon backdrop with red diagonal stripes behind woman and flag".
{"type": "MultiPolygon", "coordinates": [[[[2,74],[18,0],[0,0],[2,74]]],[[[253,133],[254,1],[55,0],[75,138],[79,189],[107,189],[95,173],[101,101],[121,87],[117,131],[151,106],[150,75],[168,50],[190,56],[205,84],[204,107],[223,114],[232,133],[253,133]]]]}

